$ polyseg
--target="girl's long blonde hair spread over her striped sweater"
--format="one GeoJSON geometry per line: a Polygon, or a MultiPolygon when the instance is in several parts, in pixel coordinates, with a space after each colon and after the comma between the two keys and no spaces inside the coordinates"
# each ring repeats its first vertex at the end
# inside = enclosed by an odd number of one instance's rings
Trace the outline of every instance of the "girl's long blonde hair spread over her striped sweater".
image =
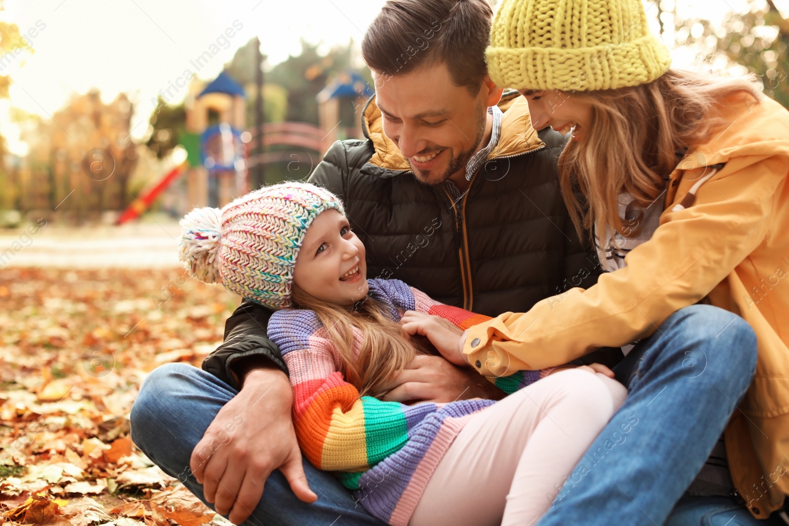
{"type": "Polygon", "coordinates": [[[293,285],[294,308],[315,311],[327,336],[342,356],[342,374],[359,390],[359,396],[381,397],[398,372],[417,353],[428,353],[419,339],[406,337],[387,316],[383,305],[365,297],[353,310],[319,300],[293,285]],[[354,354],[353,327],[361,329],[361,349],[354,354]]]}

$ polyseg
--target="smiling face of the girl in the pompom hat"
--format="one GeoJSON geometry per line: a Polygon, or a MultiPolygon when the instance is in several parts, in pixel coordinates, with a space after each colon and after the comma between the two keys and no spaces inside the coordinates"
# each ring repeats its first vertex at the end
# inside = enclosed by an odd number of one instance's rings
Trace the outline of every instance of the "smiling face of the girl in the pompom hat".
{"type": "Polygon", "coordinates": [[[296,257],[294,283],[319,300],[350,307],[367,295],[365,245],[334,209],[312,221],[296,257]]]}

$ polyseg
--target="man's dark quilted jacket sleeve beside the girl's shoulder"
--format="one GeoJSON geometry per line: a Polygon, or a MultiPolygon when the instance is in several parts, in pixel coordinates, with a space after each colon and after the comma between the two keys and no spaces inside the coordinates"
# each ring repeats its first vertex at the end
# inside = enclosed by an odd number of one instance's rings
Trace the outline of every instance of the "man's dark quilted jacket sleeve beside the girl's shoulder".
{"type": "Polygon", "coordinates": [[[277,345],[267,338],[266,327],[271,311],[252,300],[243,300],[233,315],[225,322],[222,344],[203,360],[203,370],[210,372],[222,382],[241,389],[231,367],[241,358],[260,356],[271,360],[288,372],[277,345]]]}

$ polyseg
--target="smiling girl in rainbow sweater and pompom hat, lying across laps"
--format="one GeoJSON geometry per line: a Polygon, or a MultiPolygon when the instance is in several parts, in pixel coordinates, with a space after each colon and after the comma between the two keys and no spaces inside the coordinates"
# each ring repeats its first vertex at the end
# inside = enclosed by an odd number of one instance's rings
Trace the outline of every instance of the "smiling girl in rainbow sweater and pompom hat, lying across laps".
{"type": "Polygon", "coordinates": [[[305,456],[389,524],[533,524],[625,397],[595,365],[507,371],[495,383],[514,394],[499,402],[382,401],[422,352],[408,333],[457,341],[487,317],[368,280],[342,204],[313,185],[260,188],[181,226],[193,275],[275,310],[305,456]]]}

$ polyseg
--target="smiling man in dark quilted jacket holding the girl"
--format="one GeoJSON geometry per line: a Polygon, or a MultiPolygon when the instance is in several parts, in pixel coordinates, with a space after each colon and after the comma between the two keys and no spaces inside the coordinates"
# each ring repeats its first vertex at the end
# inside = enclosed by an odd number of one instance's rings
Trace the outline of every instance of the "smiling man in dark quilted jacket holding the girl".
{"type": "MultiPolygon", "coordinates": [[[[387,2],[362,43],[376,84],[366,139],[336,143],[309,181],[346,203],[368,278],[498,315],[592,285],[599,264],[559,192],[563,136],[536,132],[525,99],[487,76],[491,17],[484,0],[387,2]]],[[[152,372],[132,412],[135,442],[236,523],[380,524],[330,474],[302,468],[269,315],[245,301],[204,371],[152,372]]],[[[502,396],[475,371],[418,356],[388,399],[502,396]]]]}

